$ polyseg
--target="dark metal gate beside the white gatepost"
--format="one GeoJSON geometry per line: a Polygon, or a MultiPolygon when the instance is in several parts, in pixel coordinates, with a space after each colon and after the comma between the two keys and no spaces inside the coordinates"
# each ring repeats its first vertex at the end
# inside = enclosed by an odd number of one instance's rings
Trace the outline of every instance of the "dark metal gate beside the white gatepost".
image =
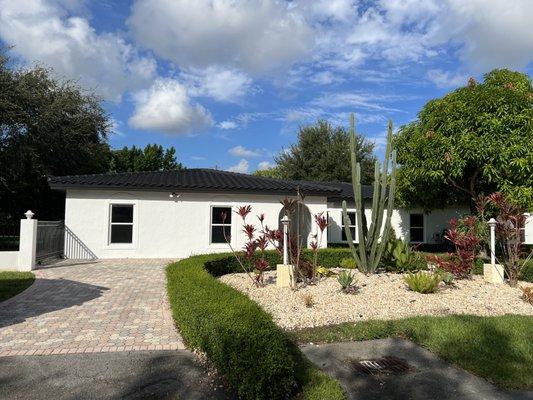
{"type": "Polygon", "coordinates": [[[37,262],[63,257],[64,248],[65,222],[37,221],[37,262]]]}

